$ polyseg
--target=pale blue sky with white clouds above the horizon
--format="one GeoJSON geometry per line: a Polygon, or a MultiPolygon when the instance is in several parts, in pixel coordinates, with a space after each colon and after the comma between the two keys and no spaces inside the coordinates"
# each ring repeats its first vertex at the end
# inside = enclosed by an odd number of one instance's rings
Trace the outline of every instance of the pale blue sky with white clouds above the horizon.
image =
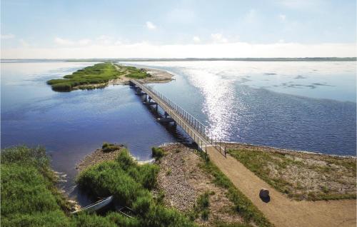
{"type": "Polygon", "coordinates": [[[356,56],[356,0],[1,0],[1,59],[356,56]]]}

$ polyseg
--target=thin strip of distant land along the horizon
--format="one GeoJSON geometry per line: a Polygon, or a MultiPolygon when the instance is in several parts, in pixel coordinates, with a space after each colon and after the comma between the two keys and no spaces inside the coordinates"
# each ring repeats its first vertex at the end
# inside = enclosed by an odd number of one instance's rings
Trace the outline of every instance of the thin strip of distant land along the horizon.
{"type": "Polygon", "coordinates": [[[313,57],[313,58],[186,58],[186,59],[1,59],[1,61],[356,61],[356,57],[313,57]]]}

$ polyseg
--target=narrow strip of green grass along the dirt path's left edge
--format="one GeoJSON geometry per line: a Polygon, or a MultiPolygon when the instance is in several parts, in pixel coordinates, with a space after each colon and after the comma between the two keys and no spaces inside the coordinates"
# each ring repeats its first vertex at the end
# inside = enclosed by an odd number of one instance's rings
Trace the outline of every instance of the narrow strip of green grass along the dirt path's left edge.
{"type": "Polygon", "coordinates": [[[244,226],[250,226],[249,223],[251,222],[255,223],[256,226],[273,226],[263,213],[231,183],[219,168],[209,161],[205,153],[200,152],[200,154],[203,156],[203,163],[200,165],[200,168],[213,176],[213,183],[215,183],[216,186],[227,189],[226,195],[228,199],[233,202],[234,210],[238,212],[246,222],[244,226]]]}

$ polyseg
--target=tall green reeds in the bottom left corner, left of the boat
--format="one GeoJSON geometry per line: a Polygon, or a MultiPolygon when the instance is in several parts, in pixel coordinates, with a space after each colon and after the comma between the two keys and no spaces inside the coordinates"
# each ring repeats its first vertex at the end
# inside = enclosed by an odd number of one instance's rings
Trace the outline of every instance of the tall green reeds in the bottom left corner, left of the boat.
{"type": "Polygon", "coordinates": [[[1,150],[1,226],[118,226],[126,221],[118,213],[68,216],[71,206],[56,179],[44,148],[1,150]]]}

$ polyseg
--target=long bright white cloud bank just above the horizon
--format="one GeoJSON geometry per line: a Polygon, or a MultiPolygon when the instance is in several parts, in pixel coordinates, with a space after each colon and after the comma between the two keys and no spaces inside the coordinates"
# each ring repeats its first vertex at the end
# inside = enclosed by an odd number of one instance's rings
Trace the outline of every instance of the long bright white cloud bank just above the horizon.
{"type": "Polygon", "coordinates": [[[57,46],[54,48],[2,49],[2,59],[89,58],[273,58],[356,56],[356,44],[226,44],[153,45],[146,42],[120,45],[57,46]]]}

